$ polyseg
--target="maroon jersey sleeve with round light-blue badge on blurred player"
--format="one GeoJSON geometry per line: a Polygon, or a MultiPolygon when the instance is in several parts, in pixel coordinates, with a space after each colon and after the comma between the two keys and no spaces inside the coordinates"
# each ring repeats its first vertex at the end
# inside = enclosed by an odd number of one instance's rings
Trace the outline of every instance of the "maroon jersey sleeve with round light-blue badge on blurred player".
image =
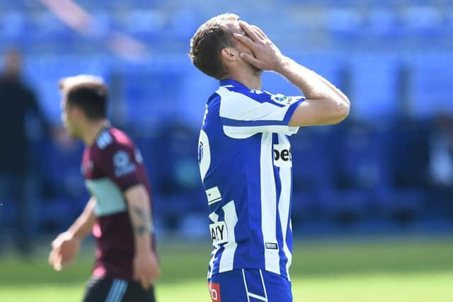
{"type": "Polygon", "coordinates": [[[134,146],[124,144],[109,146],[102,161],[105,175],[115,182],[122,192],[142,183],[139,174],[142,156],[134,146]]]}

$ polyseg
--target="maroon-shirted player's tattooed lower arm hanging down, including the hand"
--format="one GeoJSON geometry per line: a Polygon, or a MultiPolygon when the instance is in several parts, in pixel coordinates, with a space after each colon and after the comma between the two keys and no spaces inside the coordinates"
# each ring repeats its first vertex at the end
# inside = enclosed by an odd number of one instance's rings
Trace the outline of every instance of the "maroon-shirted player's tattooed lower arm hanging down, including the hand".
{"type": "Polygon", "coordinates": [[[159,276],[159,262],[151,242],[153,223],[149,194],[144,185],[139,184],[125,190],[125,197],[134,231],[134,278],[147,289],[159,276]]]}

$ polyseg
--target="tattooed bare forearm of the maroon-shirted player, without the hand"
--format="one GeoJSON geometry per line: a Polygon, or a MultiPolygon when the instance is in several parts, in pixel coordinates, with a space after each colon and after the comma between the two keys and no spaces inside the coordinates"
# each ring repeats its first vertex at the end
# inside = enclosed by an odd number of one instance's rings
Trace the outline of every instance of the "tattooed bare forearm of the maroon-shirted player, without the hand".
{"type": "Polygon", "coordinates": [[[137,185],[125,192],[136,252],[149,252],[151,249],[151,209],[149,196],[143,185],[137,185]]]}

